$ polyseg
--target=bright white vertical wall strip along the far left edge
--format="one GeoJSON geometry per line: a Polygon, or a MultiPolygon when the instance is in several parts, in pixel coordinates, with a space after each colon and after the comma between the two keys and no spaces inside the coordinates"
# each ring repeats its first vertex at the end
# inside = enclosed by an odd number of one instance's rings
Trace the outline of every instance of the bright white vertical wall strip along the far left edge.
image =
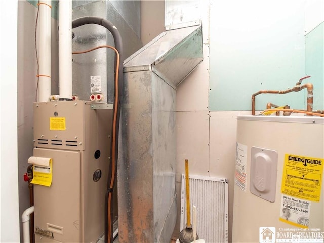
{"type": "Polygon", "coordinates": [[[0,242],[19,242],[17,4],[0,2],[0,242]]]}

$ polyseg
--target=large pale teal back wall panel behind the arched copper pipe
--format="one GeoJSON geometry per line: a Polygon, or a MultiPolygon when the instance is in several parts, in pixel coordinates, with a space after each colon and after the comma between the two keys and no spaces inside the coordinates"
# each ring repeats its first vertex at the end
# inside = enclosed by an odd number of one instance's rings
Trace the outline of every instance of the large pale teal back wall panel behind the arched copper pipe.
{"type": "MultiPolygon", "coordinates": [[[[305,76],[304,21],[301,0],[211,2],[209,109],[251,110],[253,93],[286,90],[305,76]]],[[[305,101],[304,91],[261,94],[256,109],[305,109],[305,101]]]]}

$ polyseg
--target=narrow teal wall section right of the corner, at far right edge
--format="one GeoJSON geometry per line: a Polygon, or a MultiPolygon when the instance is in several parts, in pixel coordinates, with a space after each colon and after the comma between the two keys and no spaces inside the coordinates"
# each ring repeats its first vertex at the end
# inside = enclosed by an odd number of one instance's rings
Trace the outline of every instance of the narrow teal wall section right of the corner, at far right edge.
{"type": "Polygon", "coordinates": [[[305,36],[305,71],[314,85],[314,110],[324,109],[324,22],[305,36]]]}

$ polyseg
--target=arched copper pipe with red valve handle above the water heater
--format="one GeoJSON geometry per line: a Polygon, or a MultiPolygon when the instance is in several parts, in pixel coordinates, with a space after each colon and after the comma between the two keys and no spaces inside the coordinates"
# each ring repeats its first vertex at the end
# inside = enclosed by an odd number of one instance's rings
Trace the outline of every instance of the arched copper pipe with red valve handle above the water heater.
{"type": "MultiPolygon", "coordinates": [[[[290,92],[298,92],[302,89],[307,88],[307,111],[312,112],[313,111],[313,85],[311,83],[307,83],[304,85],[300,85],[302,80],[309,78],[310,76],[302,77],[299,79],[299,82],[296,83],[296,86],[288,89],[288,90],[260,90],[257,93],[254,93],[252,95],[252,115],[255,115],[255,97],[259,94],[287,94],[290,92]]],[[[307,114],[307,116],[311,116],[307,114]]]]}

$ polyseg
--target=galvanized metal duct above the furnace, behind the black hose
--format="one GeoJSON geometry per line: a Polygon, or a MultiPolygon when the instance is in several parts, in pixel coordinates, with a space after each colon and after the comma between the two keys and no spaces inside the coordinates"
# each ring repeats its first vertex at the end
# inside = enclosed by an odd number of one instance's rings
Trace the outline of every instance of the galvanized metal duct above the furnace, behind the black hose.
{"type": "MultiPolygon", "coordinates": [[[[141,23],[138,1],[123,3],[73,1],[72,4],[73,20],[96,16],[110,21],[118,28],[123,39],[123,53],[120,53],[122,57],[129,57],[143,46],[139,37],[141,23]]],[[[114,46],[112,34],[106,28],[95,24],[73,29],[73,36],[72,51],[84,51],[100,45],[114,46]]],[[[114,70],[114,52],[110,49],[101,48],[82,55],[73,55],[73,95],[77,95],[80,100],[89,100],[90,94],[100,93],[104,97],[101,102],[112,104],[114,101],[112,70],[114,70]]]]}

